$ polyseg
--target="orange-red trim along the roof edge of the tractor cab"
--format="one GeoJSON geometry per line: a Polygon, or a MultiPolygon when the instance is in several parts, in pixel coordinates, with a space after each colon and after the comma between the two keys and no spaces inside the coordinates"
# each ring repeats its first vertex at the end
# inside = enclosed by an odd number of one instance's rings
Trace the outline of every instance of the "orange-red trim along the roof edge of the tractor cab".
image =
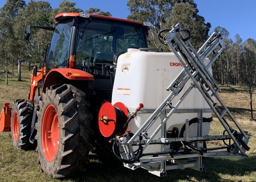
{"type": "MultiPolygon", "coordinates": [[[[65,19],[65,18],[75,17],[75,16],[79,16],[79,13],[60,13],[59,15],[55,16],[55,20],[59,23],[61,20],[65,19]]],[[[115,17],[111,17],[111,16],[91,14],[90,17],[97,17],[97,18],[102,18],[102,19],[111,19],[111,20],[117,20],[117,21],[123,21],[123,22],[136,23],[136,24],[143,25],[143,23],[141,23],[141,22],[136,22],[136,21],[127,20],[127,19],[121,19],[121,18],[115,18],[115,17]]]]}

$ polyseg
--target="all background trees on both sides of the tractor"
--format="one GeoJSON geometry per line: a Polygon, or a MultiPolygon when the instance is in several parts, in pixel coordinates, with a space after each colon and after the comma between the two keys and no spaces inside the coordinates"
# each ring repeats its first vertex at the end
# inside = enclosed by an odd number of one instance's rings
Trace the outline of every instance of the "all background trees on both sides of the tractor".
{"type": "MultiPolygon", "coordinates": [[[[30,0],[7,0],[0,8],[0,71],[5,70],[6,84],[8,84],[7,66],[18,67],[18,81],[21,81],[21,62],[42,66],[46,45],[50,42],[52,33],[42,29],[34,29],[30,41],[23,40],[25,24],[36,26],[55,26],[55,15],[61,12],[82,12],[75,7],[74,2],[62,1],[58,8],[52,8],[49,2],[30,0]]],[[[158,41],[158,33],[162,29],[170,29],[172,25],[181,23],[191,32],[190,41],[199,49],[208,39],[211,23],[205,22],[198,14],[194,0],[129,0],[127,2],[130,15],[127,19],[152,23],[148,35],[149,47],[169,48],[158,41]]],[[[98,8],[89,8],[86,12],[112,16],[110,12],[103,12],[98,8]]],[[[226,86],[234,85],[247,89],[252,106],[252,94],[256,86],[256,40],[248,38],[243,42],[239,35],[229,37],[229,32],[223,27],[216,27],[226,42],[226,49],[212,65],[215,79],[226,86]]],[[[252,115],[252,113],[251,113],[252,115]]],[[[252,117],[253,118],[253,117],[252,117]]]]}

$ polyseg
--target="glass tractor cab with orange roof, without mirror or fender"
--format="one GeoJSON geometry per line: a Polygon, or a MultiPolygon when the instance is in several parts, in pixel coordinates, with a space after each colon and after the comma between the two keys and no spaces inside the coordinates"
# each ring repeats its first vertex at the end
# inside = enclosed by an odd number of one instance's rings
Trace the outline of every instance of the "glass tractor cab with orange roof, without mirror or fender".
{"type": "Polygon", "coordinates": [[[148,27],[140,22],[86,12],[62,13],[55,19],[47,70],[69,67],[109,79],[114,56],[130,47],[148,46],[148,27]]]}

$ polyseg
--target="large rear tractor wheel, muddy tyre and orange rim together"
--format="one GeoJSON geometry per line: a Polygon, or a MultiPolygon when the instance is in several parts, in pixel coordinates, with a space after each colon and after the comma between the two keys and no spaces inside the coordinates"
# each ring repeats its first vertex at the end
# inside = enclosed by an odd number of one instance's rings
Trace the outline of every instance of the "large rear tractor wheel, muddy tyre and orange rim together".
{"type": "Polygon", "coordinates": [[[84,98],[85,93],[66,84],[48,87],[42,95],[37,123],[38,163],[49,176],[73,175],[78,169],[85,170],[85,163],[90,161],[92,116],[84,98]]]}

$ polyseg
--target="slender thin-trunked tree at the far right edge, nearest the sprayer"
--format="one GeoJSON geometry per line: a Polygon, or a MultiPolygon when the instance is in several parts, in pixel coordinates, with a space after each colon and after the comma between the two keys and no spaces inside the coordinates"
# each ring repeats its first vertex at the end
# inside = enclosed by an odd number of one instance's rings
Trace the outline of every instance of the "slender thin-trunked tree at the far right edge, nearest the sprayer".
{"type": "Polygon", "coordinates": [[[256,40],[247,39],[244,43],[244,84],[250,96],[251,120],[252,113],[252,95],[256,89],[256,40]]]}

